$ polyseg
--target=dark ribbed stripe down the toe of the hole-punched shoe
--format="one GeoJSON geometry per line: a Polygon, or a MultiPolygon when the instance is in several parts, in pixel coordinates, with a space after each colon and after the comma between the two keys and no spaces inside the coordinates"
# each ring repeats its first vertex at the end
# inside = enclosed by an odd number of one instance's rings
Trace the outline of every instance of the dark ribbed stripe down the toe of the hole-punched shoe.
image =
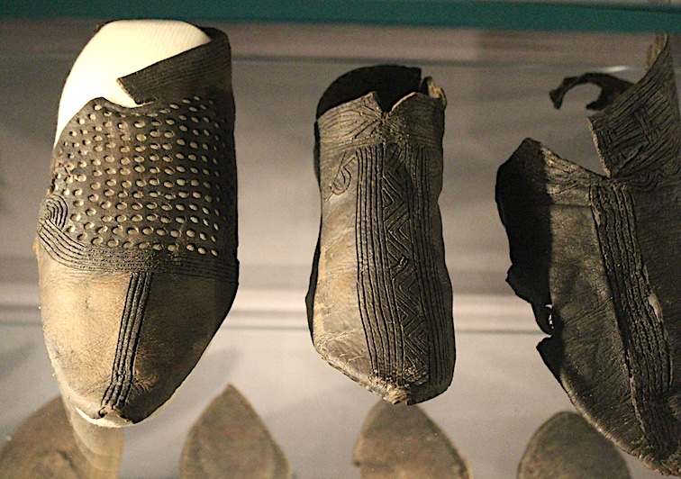
{"type": "Polygon", "coordinates": [[[140,330],[151,285],[150,273],[132,273],[118,333],[114,367],[102,398],[102,409],[121,411],[134,381],[134,364],[140,330]]]}

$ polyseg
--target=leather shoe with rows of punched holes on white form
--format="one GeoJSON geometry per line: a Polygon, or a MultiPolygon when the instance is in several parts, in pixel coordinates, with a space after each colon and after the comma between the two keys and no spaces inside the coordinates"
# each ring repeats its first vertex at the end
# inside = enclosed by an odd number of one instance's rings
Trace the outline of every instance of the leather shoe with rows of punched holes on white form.
{"type": "Polygon", "coordinates": [[[87,420],[147,418],[237,288],[230,46],[214,29],[106,24],[59,106],[35,250],[45,342],[87,420]]]}

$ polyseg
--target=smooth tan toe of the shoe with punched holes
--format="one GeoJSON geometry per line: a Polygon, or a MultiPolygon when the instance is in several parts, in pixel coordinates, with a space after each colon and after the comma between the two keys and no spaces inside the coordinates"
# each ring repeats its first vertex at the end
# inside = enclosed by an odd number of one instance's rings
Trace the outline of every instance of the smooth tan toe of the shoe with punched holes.
{"type": "Polygon", "coordinates": [[[236,285],[60,265],[38,247],[41,309],[59,387],[86,419],[139,422],[167,402],[228,312],[236,285]]]}

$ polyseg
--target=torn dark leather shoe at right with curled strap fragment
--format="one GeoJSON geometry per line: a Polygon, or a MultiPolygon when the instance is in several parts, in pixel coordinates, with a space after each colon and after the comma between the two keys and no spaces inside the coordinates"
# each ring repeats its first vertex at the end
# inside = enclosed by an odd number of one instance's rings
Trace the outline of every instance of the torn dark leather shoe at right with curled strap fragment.
{"type": "Polygon", "coordinates": [[[590,118],[605,176],[523,141],[496,185],[508,282],[550,335],[540,355],[577,411],[681,474],[681,121],[666,37],[635,85],[567,79],[554,98],[583,81],[610,90],[590,118]]]}

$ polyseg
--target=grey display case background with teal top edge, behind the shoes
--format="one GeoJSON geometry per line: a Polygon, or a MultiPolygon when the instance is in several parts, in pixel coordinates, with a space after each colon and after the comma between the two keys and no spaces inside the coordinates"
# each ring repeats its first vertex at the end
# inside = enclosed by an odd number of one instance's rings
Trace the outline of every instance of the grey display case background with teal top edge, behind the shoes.
{"type": "MultiPolygon", "coordinates": [[[[179,476],[187,434],[228,384],[257,411],[295,477],[359,477],[353,448],[380,400],[316,354],[304,298],[319,232],[317,102],[337,77],[380,64],[421,68],[447,96],[439,203],[457,362],[449,389],[419,407],[473,477],[514,477],[535,431],[575,408],[536,350],[546,334],[530,304],[505,283],[511,261],[495,203],[497,168],[531,137],[602,172],[585,108],[599,89],[577,87],[560,110],[549,91],[587,71],[638,81],[654,32],[681,32],[681,6],[175,4],[158,13],[144,5],[124,10],[125,3],[0,7],[2,436],[59,394],[42,338],[32,244],[64,80],[97,24],[177,18],[219,28],[232,44],[240,285],[186,382],[153,417],[125,429],[121,477],[179,476]]],[[[671,45],[678,87],[681,43],[672,37],[671,45]]],[[[621,454],[631,477],[661,476],[621,454]]]]}

